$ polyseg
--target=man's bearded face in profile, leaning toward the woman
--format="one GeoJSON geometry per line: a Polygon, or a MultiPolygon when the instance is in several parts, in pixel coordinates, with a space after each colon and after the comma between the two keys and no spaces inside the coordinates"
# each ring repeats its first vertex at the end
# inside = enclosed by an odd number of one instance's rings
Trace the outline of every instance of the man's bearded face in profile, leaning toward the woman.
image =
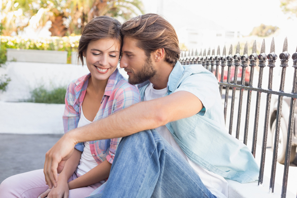
{"type": "Polygon", "coordinates": [[[151,57],[137,47],[137,40],[124,37],[120,67],[124,68],[129,76],[130,84],[140,84],[156,74],[151,57]]]}

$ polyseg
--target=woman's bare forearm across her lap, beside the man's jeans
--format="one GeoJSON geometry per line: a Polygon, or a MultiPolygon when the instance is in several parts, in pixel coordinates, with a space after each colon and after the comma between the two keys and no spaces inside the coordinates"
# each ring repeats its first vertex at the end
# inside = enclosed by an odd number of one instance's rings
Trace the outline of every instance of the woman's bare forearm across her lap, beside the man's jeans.
{"type": "Polygon", "coordinates": [[[69,189],[80,188],[88,186],[97,182],[100,182],[109,177],[111,169],[111,163],[107,160],[98,164],[95,168],[91,169],[86,174],[80,176],[79,178],[68,182],[69,189]]]}

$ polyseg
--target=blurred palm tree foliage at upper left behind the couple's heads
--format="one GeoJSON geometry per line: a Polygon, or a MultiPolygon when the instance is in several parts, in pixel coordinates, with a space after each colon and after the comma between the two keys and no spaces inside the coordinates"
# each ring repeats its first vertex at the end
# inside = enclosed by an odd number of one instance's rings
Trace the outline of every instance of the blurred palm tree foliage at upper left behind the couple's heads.
{"type": "Polygon", "coordinates": [[[4,0],[5,35],[22,30],[27,25],[42,28],[51,21],[52,36],[81,34],[83,27],[96,16],[127,19],[143,14],[141,0],[4,0]],[[21,3],[19,3],[21,2],[21,3]],[[22,7],[21,7],[22,6],[22,7]],[[28,21],[27,18],[30,18],[28,21]]]}

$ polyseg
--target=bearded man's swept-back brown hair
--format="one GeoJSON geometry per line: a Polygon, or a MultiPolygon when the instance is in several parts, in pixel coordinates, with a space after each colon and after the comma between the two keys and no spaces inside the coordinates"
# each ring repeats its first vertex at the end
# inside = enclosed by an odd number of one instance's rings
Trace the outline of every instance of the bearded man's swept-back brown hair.
{"type": "Polygon", "coordinates": [[[121,27],[123,37],[138,40],[138,47],[150,53],[164,48],[165,60],[173,66],[180,57],[178,38],[174,27],[157,14],[145,14],[126,21],[121,27]]]}

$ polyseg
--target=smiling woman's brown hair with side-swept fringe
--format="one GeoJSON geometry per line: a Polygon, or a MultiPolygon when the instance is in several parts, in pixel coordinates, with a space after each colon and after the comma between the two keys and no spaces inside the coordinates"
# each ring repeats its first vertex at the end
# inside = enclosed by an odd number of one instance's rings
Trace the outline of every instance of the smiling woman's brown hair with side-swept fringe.
{"type": "Polygon", "coordinates": [[[84,65],[83,52],[87,50],[91,41],[97,41],[99,39],[114,39],[119,42],[121,47],[122,37],[120,28],[121,23],[112,17],[98,16],[90,20],[83,29],[79,40],[79,46],[77,48],[78,58],[81,60],[82,65],[84,65]]]}

